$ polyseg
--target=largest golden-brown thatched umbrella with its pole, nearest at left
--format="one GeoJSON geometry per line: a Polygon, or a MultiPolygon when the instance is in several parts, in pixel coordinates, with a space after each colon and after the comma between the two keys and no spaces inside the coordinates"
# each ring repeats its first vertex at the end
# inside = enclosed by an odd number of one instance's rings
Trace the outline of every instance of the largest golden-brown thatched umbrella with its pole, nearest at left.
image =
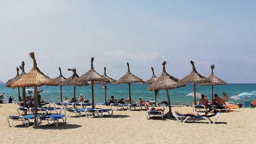
{"type": "Polygon", "coordinates": [[[42,85],[48,86],[58,86],[59,83],[50,79],[48,76],[43,74],[37,67],[36,59],[34,52],[29,53],[29,56],[33,59],[33,68],[21,79],[15,81],[11,84],[12,88],[15,87],[29,87],[34,86],[34,104],[35,104],[35,118],[34,118],[34,125],[36,126],[36,116],[37,116],[37,87],[42,85]]]}

